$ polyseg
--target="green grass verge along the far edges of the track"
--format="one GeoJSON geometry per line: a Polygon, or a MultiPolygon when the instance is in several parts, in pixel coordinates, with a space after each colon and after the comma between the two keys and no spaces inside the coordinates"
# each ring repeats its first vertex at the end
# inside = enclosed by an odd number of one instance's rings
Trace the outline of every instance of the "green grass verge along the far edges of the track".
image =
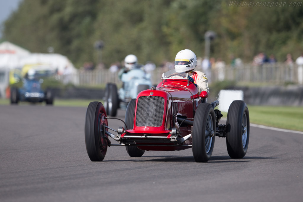
{"type": "MultiPolygon", "coordinates": [[[[92,101],[103,102],[102,100],[55,99],[54,106],[87,107],[88,104],[92,101]]],[[[8,99],[0,99],[0,104],[9,105],[10,103],[8,99]]],[[[23,105],[28,103],[22,102],[20,104],[23,105]]],[[[248,105],[248,110],[251,123],[289,130],[303,131],[303,107],[248,105]]],[[[223,117],[227,117],[226,112],[223,112],[222,114],[223,117]]]]}

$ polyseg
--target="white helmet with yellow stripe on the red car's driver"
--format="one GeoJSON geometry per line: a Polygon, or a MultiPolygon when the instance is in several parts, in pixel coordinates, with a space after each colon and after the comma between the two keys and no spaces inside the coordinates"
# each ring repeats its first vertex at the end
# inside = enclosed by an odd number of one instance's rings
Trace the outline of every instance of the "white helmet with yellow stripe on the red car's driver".
{"type": "Polygon", "coordinates": [[[175,58],[175,70],[178,72],[189,73],[194,71],[197,66],[196,54],[188,49],[179,51],[175,58]]]}

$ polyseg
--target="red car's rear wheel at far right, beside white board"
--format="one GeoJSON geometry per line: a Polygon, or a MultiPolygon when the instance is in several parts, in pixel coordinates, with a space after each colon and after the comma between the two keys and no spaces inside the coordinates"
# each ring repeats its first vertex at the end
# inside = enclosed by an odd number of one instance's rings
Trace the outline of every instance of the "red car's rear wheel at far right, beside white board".
{"type": "Polygon", "coordinates": [[[248,149],[249,112],[242,100],[231,103],[227,112],[226,146],[231,158],[243,158],[248,149]]]}

